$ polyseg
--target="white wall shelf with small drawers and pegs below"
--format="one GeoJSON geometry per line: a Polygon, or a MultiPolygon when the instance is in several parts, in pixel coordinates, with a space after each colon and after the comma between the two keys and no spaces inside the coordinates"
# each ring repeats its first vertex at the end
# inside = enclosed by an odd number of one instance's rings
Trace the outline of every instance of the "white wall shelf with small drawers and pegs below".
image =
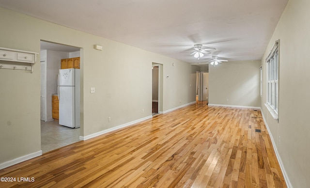
{"type": "Polygon", "coordinates": [[[0,47],[0,61],[12,62],[10,64],[0,62],[0,69],[30,70],[32,73],[37,55],[36,52],[0,47]],[[25,63],[27,64],[23,65],[25,63]]]}

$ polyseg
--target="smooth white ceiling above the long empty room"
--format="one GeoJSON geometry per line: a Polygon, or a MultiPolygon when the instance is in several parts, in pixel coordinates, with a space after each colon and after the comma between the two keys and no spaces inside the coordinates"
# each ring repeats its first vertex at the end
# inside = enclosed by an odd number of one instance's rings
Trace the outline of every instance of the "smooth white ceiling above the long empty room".
{"type": "MultiPolygon", "coordinates": [[[[0,0],[0,6],[188,63],[194,44],[261,60],[288,0],[0,0]]],[[[102,44],[104,45],[104,44],[102,44]]]]}

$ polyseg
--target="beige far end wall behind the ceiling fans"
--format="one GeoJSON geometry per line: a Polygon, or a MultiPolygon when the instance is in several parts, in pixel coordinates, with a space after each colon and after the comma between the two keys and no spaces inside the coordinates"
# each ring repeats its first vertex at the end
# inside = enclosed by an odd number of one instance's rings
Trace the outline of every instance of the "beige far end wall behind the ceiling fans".
{"type": "Polygon", "coordinates": [[[210,65],[209,104],[260,107],[260,63],[242,61],[210,65]]]}

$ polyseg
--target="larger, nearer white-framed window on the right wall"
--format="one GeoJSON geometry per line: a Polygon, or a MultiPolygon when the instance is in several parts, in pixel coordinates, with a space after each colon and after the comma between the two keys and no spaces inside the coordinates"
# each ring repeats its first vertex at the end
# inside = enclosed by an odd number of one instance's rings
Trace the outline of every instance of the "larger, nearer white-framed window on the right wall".
{"type": "Polygon", "coordinates": [[[266,107],[275,119],[279,110],[279,40],[272,47],[266,59],[267,67],[267,101],[266,107]]]}

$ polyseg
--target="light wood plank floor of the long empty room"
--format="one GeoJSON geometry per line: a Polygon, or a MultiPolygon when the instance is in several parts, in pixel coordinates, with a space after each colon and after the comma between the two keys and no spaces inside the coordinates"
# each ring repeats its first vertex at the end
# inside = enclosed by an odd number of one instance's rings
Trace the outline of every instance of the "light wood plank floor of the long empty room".
{"type": "Polygon", "coordinates": [[[197,103],[0,170],[34,178],[0,187],[286,187],[261,117],[197,103]]]}

